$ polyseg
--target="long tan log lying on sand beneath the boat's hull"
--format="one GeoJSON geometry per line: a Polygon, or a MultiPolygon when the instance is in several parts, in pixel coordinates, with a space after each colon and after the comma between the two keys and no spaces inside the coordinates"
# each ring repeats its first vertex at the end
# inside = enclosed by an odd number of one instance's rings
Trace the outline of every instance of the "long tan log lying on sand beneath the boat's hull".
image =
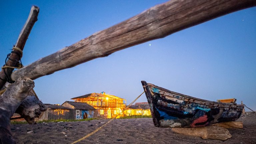
{"type": "Polygon", "coordinates": [[[196,128],[172,128],[172,131],[179,134],[202,137],[203,139],[227,140],[232,137],[226,128],[213,125],[196,128]]]}

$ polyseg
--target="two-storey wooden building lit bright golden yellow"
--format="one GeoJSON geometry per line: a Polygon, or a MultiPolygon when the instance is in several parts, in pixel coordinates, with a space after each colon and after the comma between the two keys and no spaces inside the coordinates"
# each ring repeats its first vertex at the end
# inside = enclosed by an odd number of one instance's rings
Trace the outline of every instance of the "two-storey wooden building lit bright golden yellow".
{"type": "MultiPolygon", "coordinates": [[[[97,117],[113,118],[126,108],[126,100],[114,95],[101,93],[90,93],[72,98],[75,102],[87,103],[97,110],[97,117]]],[[[124,116],[120,114],[118,117],[124,116]]]]}

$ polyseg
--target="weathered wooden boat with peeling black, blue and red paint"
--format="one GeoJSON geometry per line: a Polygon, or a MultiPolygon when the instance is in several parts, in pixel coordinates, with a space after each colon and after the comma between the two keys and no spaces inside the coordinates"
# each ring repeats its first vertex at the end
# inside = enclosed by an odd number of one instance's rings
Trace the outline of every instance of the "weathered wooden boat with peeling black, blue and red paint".
{"type": "Polygon", "coordinates": [[[188,128],[237,120],[244,105],[203,100],[141,81],[156,127],[188,128]]]}

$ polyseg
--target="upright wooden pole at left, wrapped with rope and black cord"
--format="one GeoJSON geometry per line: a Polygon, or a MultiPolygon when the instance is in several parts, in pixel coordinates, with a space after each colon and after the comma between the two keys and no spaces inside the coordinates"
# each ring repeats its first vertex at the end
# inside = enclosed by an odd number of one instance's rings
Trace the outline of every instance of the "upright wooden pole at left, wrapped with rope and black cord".
{"type": "MultiPolygon", "coordinates": [[[[23,48],[24,48],[24,46],[26,44],[26,41],[28,39],[29,33],[30,33],[33,25],[37,21],[38,13],[39,13],[39,8],[37,6],[32,6],[31,10],[30,10],[30,13],[29,13],[29,16],[28,16],[28,19],[27,19],[25,25],[23,26],[23,28],[22,28],[22,30],[20,32],[18,40],[17,40],[17,42],[15,44],[15,47],[18,47],[21,50],[23,50],[23,48]]],[[[14,49],[13,51],[15,51],[15,52],[17,52],[17,53],[19,53],[21,55],[21,52],[16,50],[16,49],[14,49]]],[[[17,61],[8,60],[7,61],[7,65],[11,66],[11,67],[15,67],[17,62],[21,59],[20,55],[17,55],[15,53],[11,53],[10,59],[16,59],[17,61]]],[[[7,79],[7,77],[6,77],[5,73],[4,73],[4,70],[5,70],[5,72],[8,75],[11,75],[11,73],[13,71],[13,68],[5,68],[5,69],[1,70],[0,78],[3,79],[3,80],[0,79],[0,89],[2,89],[2,87],[6,83],[5,80],[7,79]]]]}

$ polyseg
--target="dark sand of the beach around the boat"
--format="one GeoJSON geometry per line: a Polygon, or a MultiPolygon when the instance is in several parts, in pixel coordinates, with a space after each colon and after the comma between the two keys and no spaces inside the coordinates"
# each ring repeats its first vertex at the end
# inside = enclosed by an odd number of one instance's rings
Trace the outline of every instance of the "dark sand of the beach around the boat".
{"type": "MultiPolygon", "coordinates": [[[[11,126],[11,130],[18,144],[66,144],[82,138],[107,121],[108,119],[36,125],[16,124],[11,126]]],[[[228,129],[232,138],[221,141],[176,134],[171,128],[154,127],[152,118],[116,119],[78,143],[256,144],[256,114],[246,113],[239,121],[243,121],[244,128],[228,129]]]]}

